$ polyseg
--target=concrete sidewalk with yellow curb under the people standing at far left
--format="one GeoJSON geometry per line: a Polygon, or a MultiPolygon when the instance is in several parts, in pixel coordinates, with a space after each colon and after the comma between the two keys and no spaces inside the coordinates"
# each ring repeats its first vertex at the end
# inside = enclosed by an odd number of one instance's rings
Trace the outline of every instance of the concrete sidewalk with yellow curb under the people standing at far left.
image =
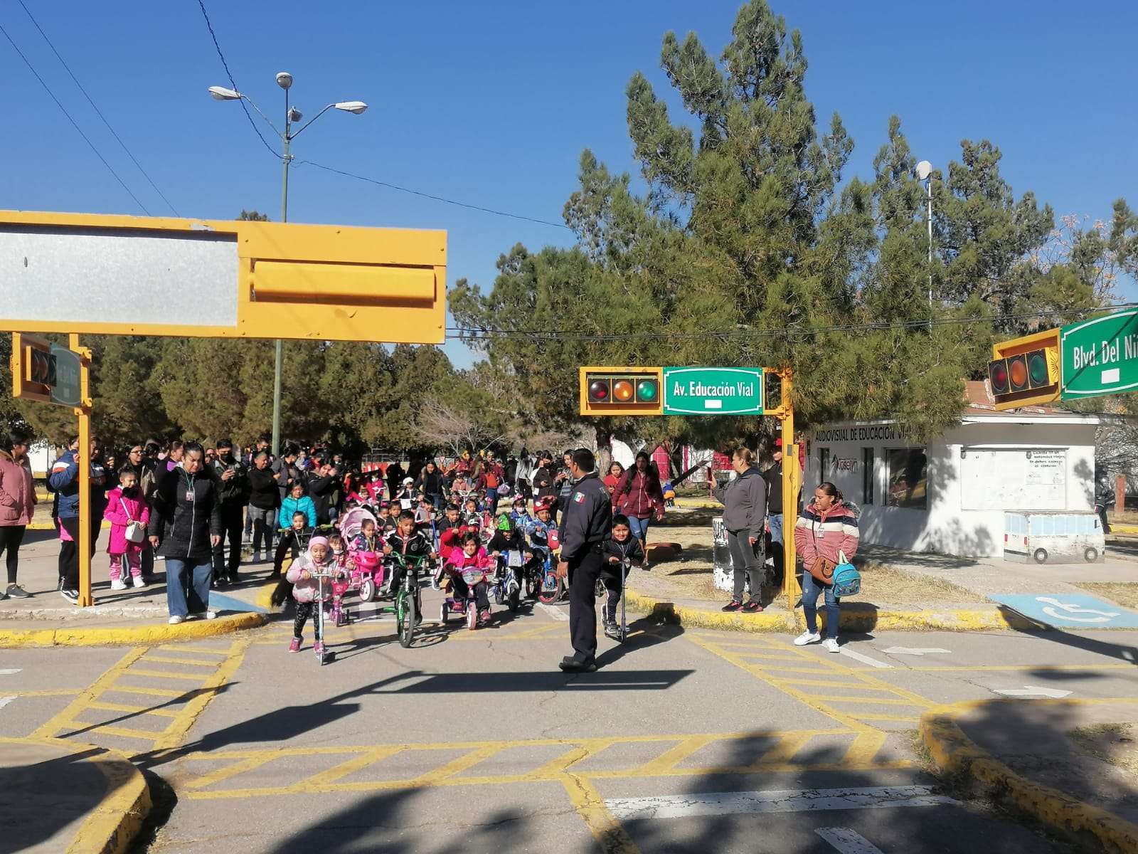
{"type": "Polygon", "coordinates": [[[145,588],[112,590],[106,533],[91,561],[94,605],[80,608],[57,592],[59,540],[52,531],[28,531],[19,550],[17,582],[28,599],[0,601],[0,647],[32,643],[97,644],[150,643],[224,634],[265,622],[257,593],[270,564],[242,566],[242,581],[211,592],[209,605],[218,616],[168,625],[165,561],[155,561],[151,583],[145,588]]]}

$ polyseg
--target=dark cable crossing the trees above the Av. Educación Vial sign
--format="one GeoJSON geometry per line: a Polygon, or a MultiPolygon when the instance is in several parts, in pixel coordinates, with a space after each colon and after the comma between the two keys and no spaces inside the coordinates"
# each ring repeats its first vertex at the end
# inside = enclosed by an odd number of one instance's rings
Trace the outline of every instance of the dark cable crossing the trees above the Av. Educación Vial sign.
{"type": "MultiPolygon", "coordinates": [[[[932,321],[933,326],[967,326],[971,323],[1007,321],[1007,320],[1033,320],[1042,318],[1061,318],[1069,315],[1094,314],[1105,310],[1133,309],[1138,303],[1123,303],[1121,305],[1110,305],[1099,309],[1069,309],[1058,311],[1023,312],[1017,314],[992,314],[973,315],[966,318],[940,318],[932,321]]],[[[906,330],[927,329],[927,320],[906,320],[901,322],[877,321],[872,323],[848,323],[842,326],[801,328],[781,327],[767,329],[726,329],[709,330],[692,334],[668,332],[669,340],[695,340],[715,337],[723,340],[731,338],[774,338],[785,336],[815,336],[831,332],[866,332],[880,330],[906,330]]],[[[618,340],[641,340],[657,339],[660,332],[613,332],[610,335],[578,332],[575,330],[546,330],[546,329],[487,329],[477,327],[447,327],[446,337],[460,340],[493,340],[494,338],[539,338],[542,340],[583,340],[583,342],[618,342],[618,340]]]]}

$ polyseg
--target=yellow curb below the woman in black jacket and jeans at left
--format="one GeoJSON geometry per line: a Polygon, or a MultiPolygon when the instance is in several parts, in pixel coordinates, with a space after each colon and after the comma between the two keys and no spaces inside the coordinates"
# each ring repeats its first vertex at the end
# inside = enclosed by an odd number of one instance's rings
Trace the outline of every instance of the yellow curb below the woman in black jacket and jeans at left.
{"type": "Polygon", "coordinates": [[[140,626],[99,629],[67,626],[65,629],[0,629],[0,649],[14,647],[105,647],[151,646],[199,638],[215,638],[245,629],[256,629],[269,622],[266,614],[230,614],[216,619],[195,619],[140,626]]]}

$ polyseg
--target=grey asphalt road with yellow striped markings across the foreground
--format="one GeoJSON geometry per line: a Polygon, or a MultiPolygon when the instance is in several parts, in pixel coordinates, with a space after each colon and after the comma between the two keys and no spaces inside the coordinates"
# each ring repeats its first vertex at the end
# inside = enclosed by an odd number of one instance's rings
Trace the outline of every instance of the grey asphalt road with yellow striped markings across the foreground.
{"type": "Polygon", "coordinates": [[[176,803],[143,849],[162,854],[1037,854],[1067,848],[942,789],[917,717],[1001,690],[1138,695],[1135,632],[890,633],[847,639],[855,656],[642,621],[567,675],[562,610],[428,622],[410,649],[361,619],[329,631],[323,667],[311,629],[288,654],[291,622],[6,650],[0,736],[113,746],[160,775],[176,803]]]}

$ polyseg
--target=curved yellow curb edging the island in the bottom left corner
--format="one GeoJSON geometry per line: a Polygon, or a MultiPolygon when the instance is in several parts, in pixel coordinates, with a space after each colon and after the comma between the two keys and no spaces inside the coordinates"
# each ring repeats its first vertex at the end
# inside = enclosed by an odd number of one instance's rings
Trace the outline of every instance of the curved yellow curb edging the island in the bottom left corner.
{"type": "Polygon", "coordinates": [[[96,763],[107,781],[106,795],[80,826],[67,854],[123,854],[130,847],[152,804],[146,778],[124,754],[60,739],[0,738],[0,742],[49,745],[73,755],[90,752],[82,761],[96,763]]]}

